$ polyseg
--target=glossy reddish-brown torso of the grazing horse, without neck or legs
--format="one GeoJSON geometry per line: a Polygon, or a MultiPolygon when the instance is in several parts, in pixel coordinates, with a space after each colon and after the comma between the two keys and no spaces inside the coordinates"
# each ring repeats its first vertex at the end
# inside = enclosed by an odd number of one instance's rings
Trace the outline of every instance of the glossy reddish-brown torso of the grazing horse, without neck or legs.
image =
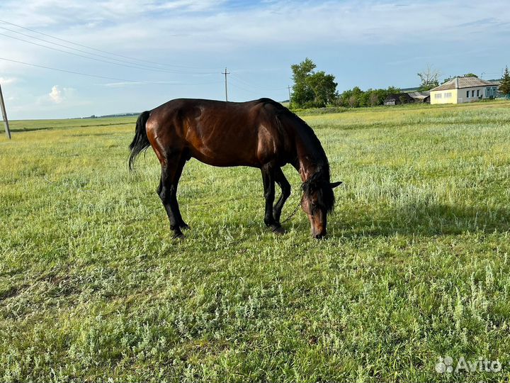
{"type": "Polygon", "coordinates": [[[162,150],[188,150],[209,165],[260,167],[285,147],[280,108],[271,99],[174,99],[151,111],[147,134],[162,150]]]}

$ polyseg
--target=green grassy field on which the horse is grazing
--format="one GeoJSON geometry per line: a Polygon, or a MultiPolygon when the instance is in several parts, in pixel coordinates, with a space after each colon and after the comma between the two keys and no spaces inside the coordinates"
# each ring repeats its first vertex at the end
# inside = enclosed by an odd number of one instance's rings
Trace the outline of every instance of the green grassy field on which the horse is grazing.
{"type": "Polygon", "coordinates": [[[510,103],[304,118],[345,184],[320,241],[301,211],[268,232],[259,170],[191,160],[175,242],[134,118],[14,121],[1,382],[506,382],[510,103]]]}

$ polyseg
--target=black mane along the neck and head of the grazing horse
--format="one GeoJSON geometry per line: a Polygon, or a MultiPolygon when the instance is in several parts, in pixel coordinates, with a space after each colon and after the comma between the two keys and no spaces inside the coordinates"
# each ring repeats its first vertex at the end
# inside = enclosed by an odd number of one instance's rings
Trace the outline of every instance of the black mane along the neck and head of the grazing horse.
{"type": "Polygon", "coordinates": [[[313,157],[314,165],[317,167],[317,172],[312,174],[312,176],[302,183],[301,188],[303,191],[303,197],[311,201],[312,194],[317,192],[317,208],[324,209],[328,213],[333,211],[335,198],[333,189],[331,188],[331,184],[329,183],[330,174],[329,174],[329,162],[326,157],[326,152],[322,148],[322,144],[315,135],[313,129],[303,121],[299,116],[290,111],[288,108],[285,108],[279,102],[273,101],[271,99],[259,99],[257,100],[264,104],[271,104],[276,109],[276,119],[278,124],[281,125],[280,116],[285,116],[295,123],[296,128],[300,130],[300,133],[310,140],[312,144],[312,148],[314,148],[314,152],[310,153],[311,157],[313,157]]]}

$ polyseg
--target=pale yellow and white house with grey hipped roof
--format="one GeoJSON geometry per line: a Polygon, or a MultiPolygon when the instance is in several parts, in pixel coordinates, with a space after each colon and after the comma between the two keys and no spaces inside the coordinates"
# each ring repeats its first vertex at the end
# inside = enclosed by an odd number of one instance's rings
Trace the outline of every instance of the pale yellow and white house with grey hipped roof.
{"type": "Polygon", "coordinates": [[[463,104],[494,98],[498,85],[478,77],[455,77],[431,89],[431,104],[463,104]]]}

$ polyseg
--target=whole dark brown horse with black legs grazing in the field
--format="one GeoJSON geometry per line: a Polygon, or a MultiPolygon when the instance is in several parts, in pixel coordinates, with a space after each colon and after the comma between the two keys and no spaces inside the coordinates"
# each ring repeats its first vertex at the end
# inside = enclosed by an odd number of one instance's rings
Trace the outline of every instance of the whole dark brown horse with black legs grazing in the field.
{"type": "Polygon", "coordinates": [[[329,163],[312,128],[294,113],[271,99],[223,102],[176,99],[140,114],[130,145],[130,169],[137,155],[152,146],[161,162],[157,193],[170,220],[174,238],[183,238],[188,228],[177,204],[177,184],[191,157],[213,166],[258,167],[262,172],[266,211],[264,223],[274,233],[283,233],[280,215],[290,195],[290,184],[281,167],[290,163],[300,173],[303,196],[312,235],[326,235],[327,213],[333,210],[329,163]],[[275,182],[281,196],[273,206],[275,182]]]}

